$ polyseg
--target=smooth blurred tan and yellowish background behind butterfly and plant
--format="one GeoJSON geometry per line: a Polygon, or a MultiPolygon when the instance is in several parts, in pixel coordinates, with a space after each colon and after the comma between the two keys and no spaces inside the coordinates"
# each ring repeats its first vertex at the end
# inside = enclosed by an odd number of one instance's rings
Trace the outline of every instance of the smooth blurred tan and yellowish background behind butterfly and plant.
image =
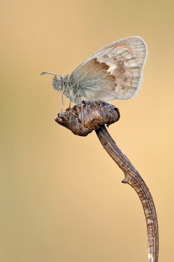
{"type": "MultiPolygon", "coordinates": [[[[147,184],[159,222],[159,262],[173,261],[173,1],[1,3],[2,262],[145,262],[147,230],[136,192],[95,132],[73,135],[54,117],[68,74],[127,36],[148,46],[138,95],[113,101],[109,132],[147,184]]],[[[65,107],[68,107],[68,100],[65,107]]]]}

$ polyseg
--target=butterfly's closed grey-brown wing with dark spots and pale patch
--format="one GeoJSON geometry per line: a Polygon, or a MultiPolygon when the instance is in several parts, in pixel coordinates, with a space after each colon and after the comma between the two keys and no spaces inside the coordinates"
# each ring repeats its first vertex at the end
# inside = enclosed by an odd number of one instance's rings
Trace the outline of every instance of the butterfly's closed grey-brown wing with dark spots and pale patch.
{"type": "Polygon", "coordinates": [[[87,102],[128,99],[138,90],[146,57],[144,40],[127,37],[87,58],[72,72],[70,81],[87,102]]]}

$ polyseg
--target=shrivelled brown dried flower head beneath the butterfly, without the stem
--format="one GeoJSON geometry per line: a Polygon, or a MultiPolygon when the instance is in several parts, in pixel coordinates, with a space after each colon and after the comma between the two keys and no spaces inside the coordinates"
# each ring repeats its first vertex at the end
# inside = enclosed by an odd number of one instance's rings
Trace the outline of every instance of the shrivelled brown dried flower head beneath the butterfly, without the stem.
{"type": "Polygon", "coordinates": [[[108,103],[90,103],[83,105],[83,121],[81,106],[67,108],[66,112],[58,114],[55,121],[70,129],[72,133],[80,136],[87,136],[101,125],[107,127],[120,118],[119,109],[108,103]]]}

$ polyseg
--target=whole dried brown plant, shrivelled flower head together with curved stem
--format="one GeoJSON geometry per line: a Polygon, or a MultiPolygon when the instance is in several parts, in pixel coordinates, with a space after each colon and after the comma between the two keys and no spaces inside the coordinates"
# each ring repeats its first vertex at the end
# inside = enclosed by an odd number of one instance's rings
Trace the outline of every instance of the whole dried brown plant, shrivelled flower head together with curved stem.
{"type": "Polygon", "coordinates": [[[104,149],[124,172],[125,179],[122,183],[131,185],[141,200],[147,224],[148,262],[158,262],[158,221],[152,196],[138,171],[120,150],[105,127],[105,124],[109,126],[119,120],[119,109],[108,103],[85,103],[83,121],[81,121],[81,108],[82,106],[67,108],[66,112],[58,114],[58,117],[54,119],[75,135],[86,136],[93,130],[96,131],[104,149]]]}

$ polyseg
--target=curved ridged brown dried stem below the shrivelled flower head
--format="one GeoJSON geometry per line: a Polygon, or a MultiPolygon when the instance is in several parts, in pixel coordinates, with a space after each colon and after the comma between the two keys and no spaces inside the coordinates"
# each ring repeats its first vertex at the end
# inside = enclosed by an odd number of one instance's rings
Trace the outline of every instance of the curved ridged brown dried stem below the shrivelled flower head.
{"type": "Polygon", "coordinates": [[[95,130],[95,132],[104,149],[124,172],[125,179],[122,181],[122,183],[131,185],[141,200],[147,225],[148,262],[158,262],[158,220],[156,216],[155,205],[149,189],[138,171],[134,168],[131,162],[127,159],[127,157],[112,139],[105,125],[100,126],[100,128],[95,130]]]}

